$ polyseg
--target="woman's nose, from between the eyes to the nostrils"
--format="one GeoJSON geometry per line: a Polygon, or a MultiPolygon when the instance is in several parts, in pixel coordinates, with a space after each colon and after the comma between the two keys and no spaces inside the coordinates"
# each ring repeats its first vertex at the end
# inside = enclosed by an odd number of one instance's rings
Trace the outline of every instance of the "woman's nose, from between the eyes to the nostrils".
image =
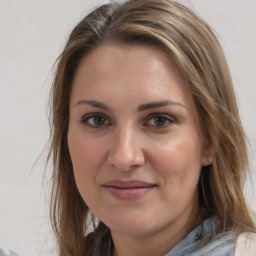
{"type": "Polygon", "coordinates": [[[129,171],[145,163],[139,132],[131,127],[120,128],[113,134],[108,163],[119,171],[129,171]]]}

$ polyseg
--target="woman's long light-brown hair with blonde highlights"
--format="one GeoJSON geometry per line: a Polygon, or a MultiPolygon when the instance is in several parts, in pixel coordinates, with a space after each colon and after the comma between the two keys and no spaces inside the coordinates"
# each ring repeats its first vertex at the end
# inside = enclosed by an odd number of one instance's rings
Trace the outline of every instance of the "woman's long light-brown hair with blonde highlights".
{"type": "Polygon", "coordinates": [[[213,163],[201,171],[199,202],[204,216],[217,215],[219,232],[255,232],[243,195],[248,172],[246,137],[229,68],[209,25],[171,0],[105,4],[82,19],[58,58],[51,91],[53,162],[51,220],[59,256],[91,255],[107,227],[95,217],[76,187],[67,133],[72,82],[80,61],[104,44],[154,47],[176,66],[192,95],[204,137],[214,147],[213,163]],[[94,223],[92,235],[90,223],[94,223]]]}

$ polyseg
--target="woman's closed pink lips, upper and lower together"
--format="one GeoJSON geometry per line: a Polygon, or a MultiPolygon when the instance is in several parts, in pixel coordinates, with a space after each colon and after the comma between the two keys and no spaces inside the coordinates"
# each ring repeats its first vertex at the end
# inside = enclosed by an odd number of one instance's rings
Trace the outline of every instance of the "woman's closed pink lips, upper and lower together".
{"type": "Polygon", "coordinates": [[[156,184],[139,180],[111,180],[103,184],[103,188],[117,199],[135,200],[153,190],[156,184]]]}

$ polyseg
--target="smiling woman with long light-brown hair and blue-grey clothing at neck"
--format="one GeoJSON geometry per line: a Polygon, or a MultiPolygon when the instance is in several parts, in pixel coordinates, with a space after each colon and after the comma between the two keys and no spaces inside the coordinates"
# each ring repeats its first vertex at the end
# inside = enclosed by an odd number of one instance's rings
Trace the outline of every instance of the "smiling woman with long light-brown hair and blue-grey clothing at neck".
{"type": "Polygon", "coordinates": [[[86,16],[59,58],[52,125],[59,255],[254,253],[232,80],[186,7],[130,0],[86,16]]]}

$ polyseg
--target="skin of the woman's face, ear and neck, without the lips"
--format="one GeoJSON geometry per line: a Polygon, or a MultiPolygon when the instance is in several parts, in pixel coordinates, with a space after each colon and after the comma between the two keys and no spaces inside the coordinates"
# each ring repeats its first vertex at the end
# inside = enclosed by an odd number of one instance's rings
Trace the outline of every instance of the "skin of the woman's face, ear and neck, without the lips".
{"type": "Polygon", "coordinates": [[[158,50],[105,45],[84,57],[71,92],[68,146],[79,192],[110,228],[114,255],[163,255],[200,223],[197,184],[212,157],[189,92],[158,50]],[[110,180],[155,186],[123,200],[103,186],[110,180]]]}

